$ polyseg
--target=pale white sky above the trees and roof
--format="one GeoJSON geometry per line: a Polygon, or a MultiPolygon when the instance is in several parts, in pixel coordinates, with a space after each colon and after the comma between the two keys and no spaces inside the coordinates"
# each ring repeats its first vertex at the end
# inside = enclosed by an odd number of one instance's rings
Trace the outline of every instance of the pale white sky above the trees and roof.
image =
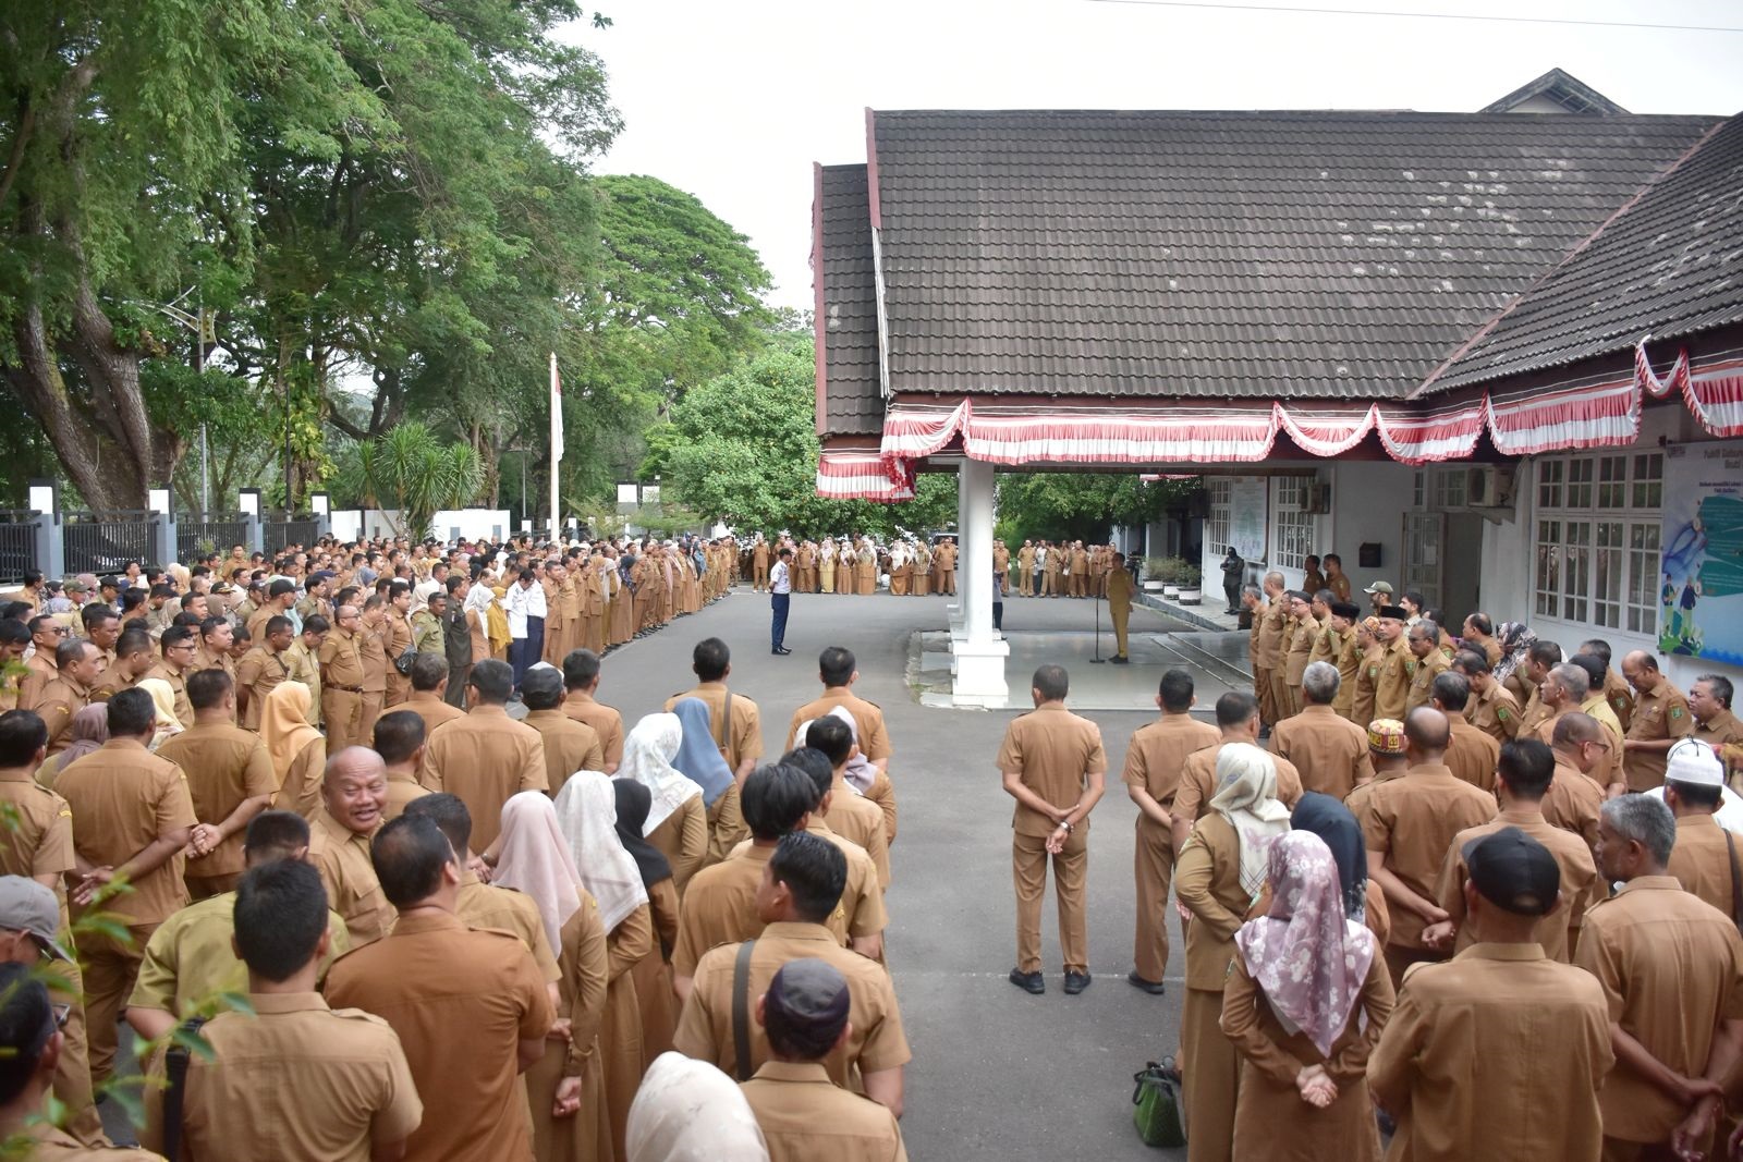
{"type": "Polygon", "coordinates": [[[624,117],[594,169],[650,174],[699,197],[762,254],[776,282],[770,303],[800,308],[812,305],[812,162],[863,162],[868,106],[1475,111],[1560,66],[1635,113],[1743,110],[1743,31],[1518,21],[1743,30],[1736,0],[1272,3],[1363,12],[1145,0],[605,0],[610,28],[577,23],[566,35],[603,57],[624,117]]]}

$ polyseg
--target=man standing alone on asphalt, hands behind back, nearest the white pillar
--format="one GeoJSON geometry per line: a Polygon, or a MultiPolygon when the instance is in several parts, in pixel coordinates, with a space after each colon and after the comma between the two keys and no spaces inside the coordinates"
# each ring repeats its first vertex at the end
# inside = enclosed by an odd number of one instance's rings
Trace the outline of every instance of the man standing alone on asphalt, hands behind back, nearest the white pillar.
{"type": "Polygon", "coordinates": [[[1063,665],[1042,665],[1030,683],[1035,709],[1011,721],[999,747],[1004,791],[1016,800],[1011,817],[1011,869],[1016,878],[1016,967],[1011,983],[1044,993],[1041,976],[1041,897],[1053,862],[1060,909],[1065,993],[1089,988],[1089,937],[1084,890],[1089,873],[1089,812],[1103,793],[1107,754],[1102,730],[1065,709],[1070,678],[1063,665]]]}

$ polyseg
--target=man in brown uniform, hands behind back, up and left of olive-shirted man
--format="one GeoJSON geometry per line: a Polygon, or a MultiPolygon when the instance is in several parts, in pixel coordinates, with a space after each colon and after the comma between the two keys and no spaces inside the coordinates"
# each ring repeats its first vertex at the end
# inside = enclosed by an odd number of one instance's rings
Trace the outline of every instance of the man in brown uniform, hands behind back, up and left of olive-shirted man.
{"type": "Polygon", "coordinates": [[[61,772],[54,789],[73,812],[73,843],[89,871],[73,888],[85,911],[110,880],[132,890],[96,904],[125,925],[125,937],[82,934],[85,1012],[91,1019],[91,1078],[108,1078],[115,1063],[115,1019],[132,993],[152,932],[188,902],[183,850],[193,834],[193,801],[181,768],[145,749],[157,730],[157,707],[145,690],[122,690],[108,702],[110,740],[61,772]]]}

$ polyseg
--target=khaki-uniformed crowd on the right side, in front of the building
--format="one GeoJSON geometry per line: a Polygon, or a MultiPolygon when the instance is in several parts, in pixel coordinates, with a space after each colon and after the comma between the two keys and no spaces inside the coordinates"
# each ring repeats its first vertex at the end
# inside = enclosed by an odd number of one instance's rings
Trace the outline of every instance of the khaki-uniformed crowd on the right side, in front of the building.
{"type": "MultiPolygon", "coordinates": [[[[1314,563],[1318,564],[1318,561],[1314,563]]],[[[1715,812],[1743,760],[1733,683],[1687,695],[1647,652],[1612,665],[1471,613],[1457,632],[1379,582],[1246,587],[1253,692],[1126,749],[1138,807],[1129,983],[1185,998],[1170,1073],[1187,1157],[1743,1157],[1743,869],[1715,812]]],[[[999,753],[1016,800],[1018,960],[1046,991],[1051,866],[1063,991],[1091,984],[1098,726],[1041,667],[999,753]]]]}

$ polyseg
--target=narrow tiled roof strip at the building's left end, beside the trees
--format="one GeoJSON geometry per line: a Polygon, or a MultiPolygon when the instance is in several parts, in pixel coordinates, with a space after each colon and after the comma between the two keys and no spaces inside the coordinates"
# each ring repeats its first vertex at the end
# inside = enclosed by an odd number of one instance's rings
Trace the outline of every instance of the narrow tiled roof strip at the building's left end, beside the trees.
{"type": "Polygon", "coordinates": [[[877,434],[884,429],[884,395],[877,369],[877,280],[866,167],[823,166],[817,197],[823,237],[821,253],[812,260],[812,279],[821,284],[821,430],[824,436],[877,434]]]}

